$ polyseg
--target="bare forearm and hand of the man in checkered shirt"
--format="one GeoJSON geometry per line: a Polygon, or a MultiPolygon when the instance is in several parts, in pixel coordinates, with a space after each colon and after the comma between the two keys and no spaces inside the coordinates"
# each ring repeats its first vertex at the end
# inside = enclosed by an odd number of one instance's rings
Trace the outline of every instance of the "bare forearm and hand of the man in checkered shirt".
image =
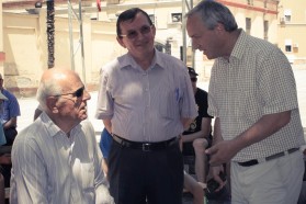
{"type": "Polygon", "coordinates": [[[263,115],[251,127],[241,133],[235,139],[217,143],[206,154],[209,154],[212,166],[218,166],[230,161],[241,149],[258,143],[284,127],[291,120],[291,111],[263,115]]]}

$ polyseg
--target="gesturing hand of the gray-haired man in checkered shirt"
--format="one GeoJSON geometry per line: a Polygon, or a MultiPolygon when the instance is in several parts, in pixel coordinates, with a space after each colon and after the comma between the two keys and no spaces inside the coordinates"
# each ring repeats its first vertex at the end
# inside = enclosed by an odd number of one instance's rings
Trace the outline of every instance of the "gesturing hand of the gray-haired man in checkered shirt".
{"type": "Polygon", "coordinates": [[[205,154],[211,155],[209,165],[219,166],[227,163],[238,152],[235,149],[234,140],[222,140],[211,148],[205,150],[205,154]]]}

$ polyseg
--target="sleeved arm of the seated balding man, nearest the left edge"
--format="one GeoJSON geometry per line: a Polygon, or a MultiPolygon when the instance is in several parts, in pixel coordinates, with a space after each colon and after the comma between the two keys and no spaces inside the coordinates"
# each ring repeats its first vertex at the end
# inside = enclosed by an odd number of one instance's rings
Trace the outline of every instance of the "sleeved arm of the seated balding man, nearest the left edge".
{"type": "Polygon", "coordinates": [[[36,144],[16,141],[12,149],[12,201],[48,203],[47,173],[36,144]]]}

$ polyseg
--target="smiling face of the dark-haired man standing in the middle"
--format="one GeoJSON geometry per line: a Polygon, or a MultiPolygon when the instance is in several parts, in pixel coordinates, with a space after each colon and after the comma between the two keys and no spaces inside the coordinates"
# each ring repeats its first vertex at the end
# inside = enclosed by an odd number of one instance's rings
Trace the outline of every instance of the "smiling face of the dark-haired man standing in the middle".
{"type": "Polygon", "coordinates": [[[143,13],[137,13],[134,21],[124,21],[120,24],[122,37],[117,42],[135,58],[141,58],[154,50],[156,29],[150,25],[143,13]]]}

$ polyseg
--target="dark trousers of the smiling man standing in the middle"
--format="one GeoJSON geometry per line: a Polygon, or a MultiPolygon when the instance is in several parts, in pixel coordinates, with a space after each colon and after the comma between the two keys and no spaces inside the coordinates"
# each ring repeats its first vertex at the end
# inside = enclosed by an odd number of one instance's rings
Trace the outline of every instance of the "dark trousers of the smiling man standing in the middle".
{"type": "Polygon", "coordinates": [[[179,144],[143,151],[114,141],[109,156],[109,179],[116,204],[181,204],[183,160],[179,144]]]}

